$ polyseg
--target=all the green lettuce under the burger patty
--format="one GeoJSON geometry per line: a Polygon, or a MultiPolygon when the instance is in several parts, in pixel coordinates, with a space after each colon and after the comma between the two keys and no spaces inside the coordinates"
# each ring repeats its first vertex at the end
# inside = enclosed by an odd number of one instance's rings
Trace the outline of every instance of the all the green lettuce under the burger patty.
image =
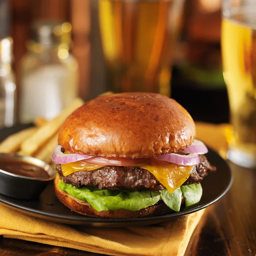
{"type": "Polygon", "coordinates": [[[96,186],[76,187],[72,184],[59,184],[59,188],[68,194],[89,203],[98,212],[126,209],[138,211],[156,204],[161,199],[174,211],[180,211],[181,196],[185,198],[186,207],[196,204],[202,196],[201,184],[192,184],[177,188],[172,194],[167,189],[160,191],[119,191],[97,189],[96,186]]]}

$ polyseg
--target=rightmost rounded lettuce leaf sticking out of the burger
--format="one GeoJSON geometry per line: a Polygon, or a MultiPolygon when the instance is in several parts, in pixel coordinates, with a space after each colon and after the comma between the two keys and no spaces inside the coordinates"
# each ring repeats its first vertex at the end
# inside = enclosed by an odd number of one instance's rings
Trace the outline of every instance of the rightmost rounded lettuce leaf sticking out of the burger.
{"type": "Polygon", "coordinates": [[[193,204],[197,204],[203,194],[203,189],[201,184],[191,184],[180,187],[183,197],[185,198],[186,207],[189,207],[193,204]]]}

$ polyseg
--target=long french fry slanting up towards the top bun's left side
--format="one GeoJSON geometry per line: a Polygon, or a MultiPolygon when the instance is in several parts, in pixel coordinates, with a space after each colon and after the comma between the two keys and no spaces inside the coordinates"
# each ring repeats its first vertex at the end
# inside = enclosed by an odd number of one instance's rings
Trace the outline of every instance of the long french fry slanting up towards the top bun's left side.
{"type": "Polygon", "coordinates": [[[76,98],[61,114],[54,119],[50,120],[42,127],[40,127],[31,137],[23,141],[20,146],[21,152],[26,155],[33,155],[39,150],[41,146],[47,143],[47,140],[53,137],[58,132],[64,120],[73,111],[83,105],[84,102],[80,98],[76,98]]]}

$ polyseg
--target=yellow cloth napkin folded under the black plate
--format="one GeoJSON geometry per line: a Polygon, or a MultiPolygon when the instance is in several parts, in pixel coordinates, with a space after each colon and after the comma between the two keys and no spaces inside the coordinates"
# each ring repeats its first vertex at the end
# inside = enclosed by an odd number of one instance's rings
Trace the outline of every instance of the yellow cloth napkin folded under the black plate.
{"type": "MultiPolygon", "coordinates": [[[[225,125],[197,124],[198,139],[225,150],[225,125]]],[[[182,256],[204,210],[146,227],[96,228],[58,224],[0,205],[0,235],[107,255],[182,256]]]]}

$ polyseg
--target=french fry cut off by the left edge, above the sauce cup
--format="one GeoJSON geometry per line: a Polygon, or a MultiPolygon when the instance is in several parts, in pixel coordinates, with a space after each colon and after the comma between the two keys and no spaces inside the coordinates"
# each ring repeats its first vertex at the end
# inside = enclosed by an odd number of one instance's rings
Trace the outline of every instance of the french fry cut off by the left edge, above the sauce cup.
{"type": "Polygon", "coordinates": [[[30,137],[32,134],[38,130],[36,127],[31,127],[19,131],[15,134],[10,135],[2,143],[0,143],[0,152],[1,153],[12,153],[17,151],[20,148],[21,143],[30,137]]]}

